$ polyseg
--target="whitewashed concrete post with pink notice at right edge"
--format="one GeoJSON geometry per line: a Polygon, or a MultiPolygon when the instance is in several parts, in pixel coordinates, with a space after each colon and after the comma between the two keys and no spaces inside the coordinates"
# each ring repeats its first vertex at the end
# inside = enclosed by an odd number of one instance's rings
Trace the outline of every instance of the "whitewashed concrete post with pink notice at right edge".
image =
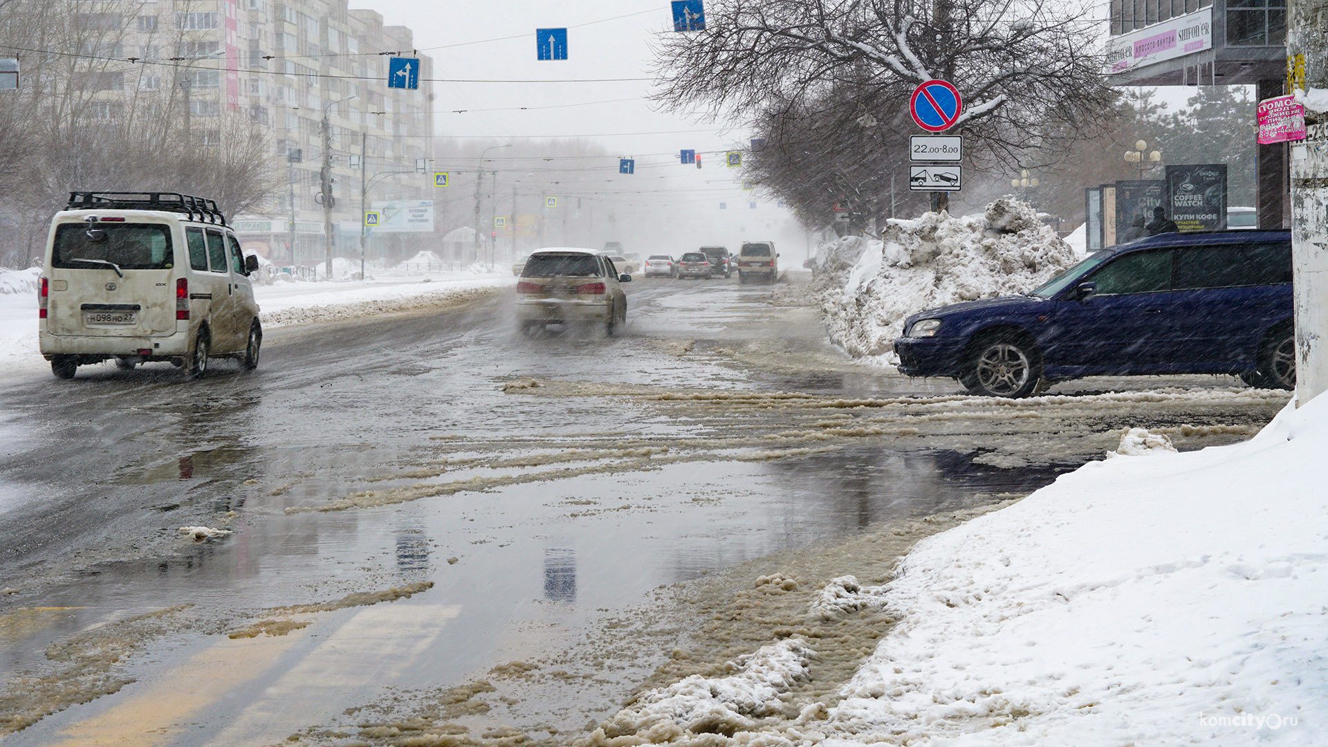
{"type": "MultiPolygon", "coordinates": [[[[1304,56],[1304,77],[1292,86],[1328,94],[1328,0],[1288,5],[1287,54],[1304,56]]],[[[1307,108],[1305,124],[1308,137],[1291,153],[1296,407],[1328,389],[1328,112],[1307,108]]]]}

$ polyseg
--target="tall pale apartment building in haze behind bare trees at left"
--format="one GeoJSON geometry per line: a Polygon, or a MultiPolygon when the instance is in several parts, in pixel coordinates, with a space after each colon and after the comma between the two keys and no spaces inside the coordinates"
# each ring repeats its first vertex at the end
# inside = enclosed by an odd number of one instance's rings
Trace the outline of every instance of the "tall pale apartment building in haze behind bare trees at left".
{"type": "MultiPolygon", "coordinates": [[[[361,167],[369,202],[432,198],[433,181],[416,166],[432,157],[433,64],[413,52],[409,28],[384,25],[380,13],[347,0],[138,0],[133,12],[131,24],[117,19],[129,43],[121,56],[173,65],[139,65],[137,85],[126,80],[125,90],[174,86],[193,137],[205,142],[223,137],[222,120],[236,114],[270,134],[283,185],[260,214],[232,217],[247,249],[279,265],[324,257],[324,114],[335,253],[360,254],[361,167]],[[420,58],[418,89],[388,88],[393,54],[420,58]]],[[[416,237],[380,234],[377,255],[432,239],[416,237]]]]}

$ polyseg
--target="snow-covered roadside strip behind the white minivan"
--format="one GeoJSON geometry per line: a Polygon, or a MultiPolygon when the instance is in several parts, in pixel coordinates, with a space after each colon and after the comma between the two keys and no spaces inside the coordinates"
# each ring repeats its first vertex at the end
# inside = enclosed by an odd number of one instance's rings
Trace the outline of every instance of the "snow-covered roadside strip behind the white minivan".
{"type": "MultiPolygon", "coordinates": [[[[0,372],[37,371],[37,267],[0,271],[0,372]]],[[[511,272],[462,270],[421,275],[377,272],[369,280],[286,282],[255,286],[264,327],[308,324],[414,311],[479,298],[515,282],[511,272]]]]}

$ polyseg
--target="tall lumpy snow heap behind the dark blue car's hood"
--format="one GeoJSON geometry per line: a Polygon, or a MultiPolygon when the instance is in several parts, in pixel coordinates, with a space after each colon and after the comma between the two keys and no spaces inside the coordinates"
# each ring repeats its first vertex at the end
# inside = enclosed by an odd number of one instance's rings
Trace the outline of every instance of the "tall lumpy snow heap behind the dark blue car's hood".
{"type": "Polygon", "coordinates": [[[831,342],[858,356],[884,356],[904,318],[963,300],[1021,294],[1049,280],[1077,261],[1074,251],[1027,203],[997,199],[983,215],[952,218],[927,213],[916,221],[887,221],[880,242],[839,239],[823,251],[833,261],[818,272],[842,287],[825,291],[826,330],[831,342]],[[861,250],[843,274],[842,258],[861,250]]]}

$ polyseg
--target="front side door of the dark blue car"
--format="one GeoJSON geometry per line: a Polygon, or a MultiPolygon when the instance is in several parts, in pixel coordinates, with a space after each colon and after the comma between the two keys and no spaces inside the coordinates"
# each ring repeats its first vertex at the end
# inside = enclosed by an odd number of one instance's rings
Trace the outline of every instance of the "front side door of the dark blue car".
{"type": "Polygon", "coordinates": [[[1086,275],[1084,282],[1097,283],[1097,291],[1086,299],[1062,298],[1049,324],[1056,363],[1089,368],[1085,374],[1129,374],[1146,372],[1163,360],[1171,324],[1171,262],[1170,247],[1134,251],[1086,275]]]}

